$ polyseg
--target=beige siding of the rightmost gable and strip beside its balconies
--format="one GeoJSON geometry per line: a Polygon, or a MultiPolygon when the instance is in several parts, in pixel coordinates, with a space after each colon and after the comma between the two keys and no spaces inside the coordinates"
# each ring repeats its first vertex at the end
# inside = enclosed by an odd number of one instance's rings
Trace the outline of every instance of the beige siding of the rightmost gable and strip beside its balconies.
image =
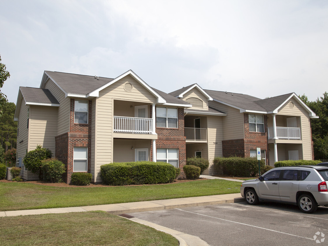
{"type": "MultiPolygon", "coordinates": [[[[301,128],[301,139],[302,139],[302,152],[304,160],[312,159],[311,149],[311,134],[310,134],[310,118],[309,113],[295,100],[291,98],[288,102],[278,110],[278,115],[288,115],[288,117],[300,116],[300,128],[301,128]],[[289,103],[294,103],[294,108],[289,107],[289,103]]],[[[287,155],[288,158],[288,155],[287,155]]]]}

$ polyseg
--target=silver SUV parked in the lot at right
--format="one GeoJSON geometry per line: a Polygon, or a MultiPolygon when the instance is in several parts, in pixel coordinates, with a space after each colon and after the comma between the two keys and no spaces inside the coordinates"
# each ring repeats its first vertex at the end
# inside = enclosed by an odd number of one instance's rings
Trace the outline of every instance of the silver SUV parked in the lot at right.
{"type": "Polygon", "coordinates": [[[240,194],[251,205],[274,201],[298,205],[304,213],[313,213],[319,206],[328,207],[328,167],[277,167],[257,179],[242,182],[240,194]]]}

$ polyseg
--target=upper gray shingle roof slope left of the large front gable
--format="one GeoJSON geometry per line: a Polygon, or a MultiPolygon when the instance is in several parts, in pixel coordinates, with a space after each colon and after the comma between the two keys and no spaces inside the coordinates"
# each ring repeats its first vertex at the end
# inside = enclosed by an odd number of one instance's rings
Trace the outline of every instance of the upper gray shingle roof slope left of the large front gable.
{"type": "Polygon", "coordinates": [[[112,81],[112,78],[73,74],[66,72],[45,71],[67,93],[86,95],[112,81]]]}

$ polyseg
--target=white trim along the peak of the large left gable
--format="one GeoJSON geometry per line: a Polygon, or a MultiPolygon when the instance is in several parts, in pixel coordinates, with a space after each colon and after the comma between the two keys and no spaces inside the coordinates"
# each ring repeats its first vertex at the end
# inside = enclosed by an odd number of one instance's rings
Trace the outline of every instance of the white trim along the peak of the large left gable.
{"type": "Polygon", "coordinates": [[[136,75],[132,70],[129,70],[125,73],[123,73],[122,75],[116,77],[115,79],[113,79],[112,81],[108,82],[107,84],[99,87],[97,90],[94,90],[93,92],[90,92],[89,94],[87,94],[86,97],[89,96],[95,96],[98,97],[99,96],[99,92],[103,89],[105,89],[106,87],[112,85],[113,83],[115,83],[116,81],[124,78],[127,75],[131,75],[136,81],[138,81],[143,87],[145,87],[149,92],[151,92],[156,98],[157,98],[157,103],[166,103],[166,100],[159,95],[157,92],[155,92],[149,85],[147,85],[141,78],[139,78],[138,75],[136,75]]]}

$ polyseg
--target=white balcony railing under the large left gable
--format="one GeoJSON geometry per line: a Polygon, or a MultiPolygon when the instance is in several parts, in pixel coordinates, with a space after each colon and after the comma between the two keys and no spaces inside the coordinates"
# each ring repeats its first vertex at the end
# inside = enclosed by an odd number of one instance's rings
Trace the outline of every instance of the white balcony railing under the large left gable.
{"type": "Polygon", "coordinates": [[[152,134],[151,118],[114,116],[114,133],[152,134]]]}

